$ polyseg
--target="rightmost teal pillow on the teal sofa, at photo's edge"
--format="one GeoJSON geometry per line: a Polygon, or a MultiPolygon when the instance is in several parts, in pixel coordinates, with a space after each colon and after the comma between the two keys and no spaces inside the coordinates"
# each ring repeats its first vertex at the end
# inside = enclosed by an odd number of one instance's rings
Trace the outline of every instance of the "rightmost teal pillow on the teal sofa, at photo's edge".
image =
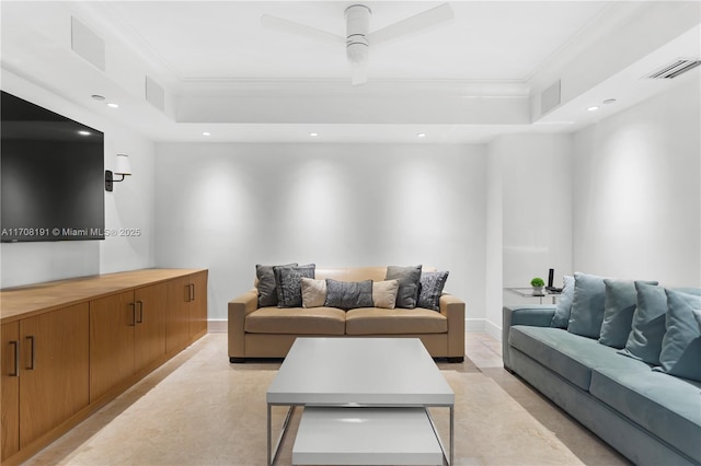
{"type": "Polygon", "coordinates": [[[701,331],[693,315],[701,308],[701,296],[666,290],[667,331],[662,340],[656,371],[701,382],[701,331]]]}

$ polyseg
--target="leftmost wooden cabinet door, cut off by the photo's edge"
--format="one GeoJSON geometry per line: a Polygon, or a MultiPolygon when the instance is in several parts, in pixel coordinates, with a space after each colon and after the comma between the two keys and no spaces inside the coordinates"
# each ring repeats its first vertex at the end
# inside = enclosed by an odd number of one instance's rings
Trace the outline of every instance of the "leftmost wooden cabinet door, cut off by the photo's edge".
{"type": "Polygon", "coordinates": [[[20,450],[20,323],[2,325],[2,459],[20,450]]]}

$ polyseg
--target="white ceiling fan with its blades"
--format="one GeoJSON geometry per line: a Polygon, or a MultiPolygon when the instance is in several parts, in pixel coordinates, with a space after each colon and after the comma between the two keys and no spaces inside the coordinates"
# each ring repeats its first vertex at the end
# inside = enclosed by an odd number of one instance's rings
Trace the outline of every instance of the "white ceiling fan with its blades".
{"type": "Polygon", "coordinates": [[[392,39],[401,38],[455,18],[450,4],[441,3],[430,10],[370,32],[370,16],[372,15],[372,11],[367,5],[352,4],[345,9],[344,15],[346,19],[345,37],[294,21],[271,16],[269,14],[261,16],[261,25],[267,28],[306,36],[315,40],[345,44],[346,57],[350,63],[350,83],[358,85],[367,82],[367,62],[370,46],[374,47],[392,39]]]}

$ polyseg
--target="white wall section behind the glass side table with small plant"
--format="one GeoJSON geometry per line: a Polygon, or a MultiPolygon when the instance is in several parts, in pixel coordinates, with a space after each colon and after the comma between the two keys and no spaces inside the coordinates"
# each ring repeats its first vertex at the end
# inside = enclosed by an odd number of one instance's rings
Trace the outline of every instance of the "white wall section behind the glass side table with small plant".
{"type": "Polygon", "coordinates": [[[533,277],[554,283],[573,270],[572,137],[508,135],[489,145],[487,308],[485,329],[501,337],[502,305],[537,303],[504,292],[530,287],[533,277]]]}

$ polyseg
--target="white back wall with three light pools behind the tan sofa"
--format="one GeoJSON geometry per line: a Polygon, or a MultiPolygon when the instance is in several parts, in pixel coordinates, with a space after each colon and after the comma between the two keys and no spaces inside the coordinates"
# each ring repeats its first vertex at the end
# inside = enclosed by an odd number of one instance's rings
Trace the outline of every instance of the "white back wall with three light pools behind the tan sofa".
{"type": "Polygon", "coordinates": [[[209,318],[255,264],[433,265],[483,317],[485,148],[398,144],[157,147],[161,267],[209,269],[209,318]]]}

